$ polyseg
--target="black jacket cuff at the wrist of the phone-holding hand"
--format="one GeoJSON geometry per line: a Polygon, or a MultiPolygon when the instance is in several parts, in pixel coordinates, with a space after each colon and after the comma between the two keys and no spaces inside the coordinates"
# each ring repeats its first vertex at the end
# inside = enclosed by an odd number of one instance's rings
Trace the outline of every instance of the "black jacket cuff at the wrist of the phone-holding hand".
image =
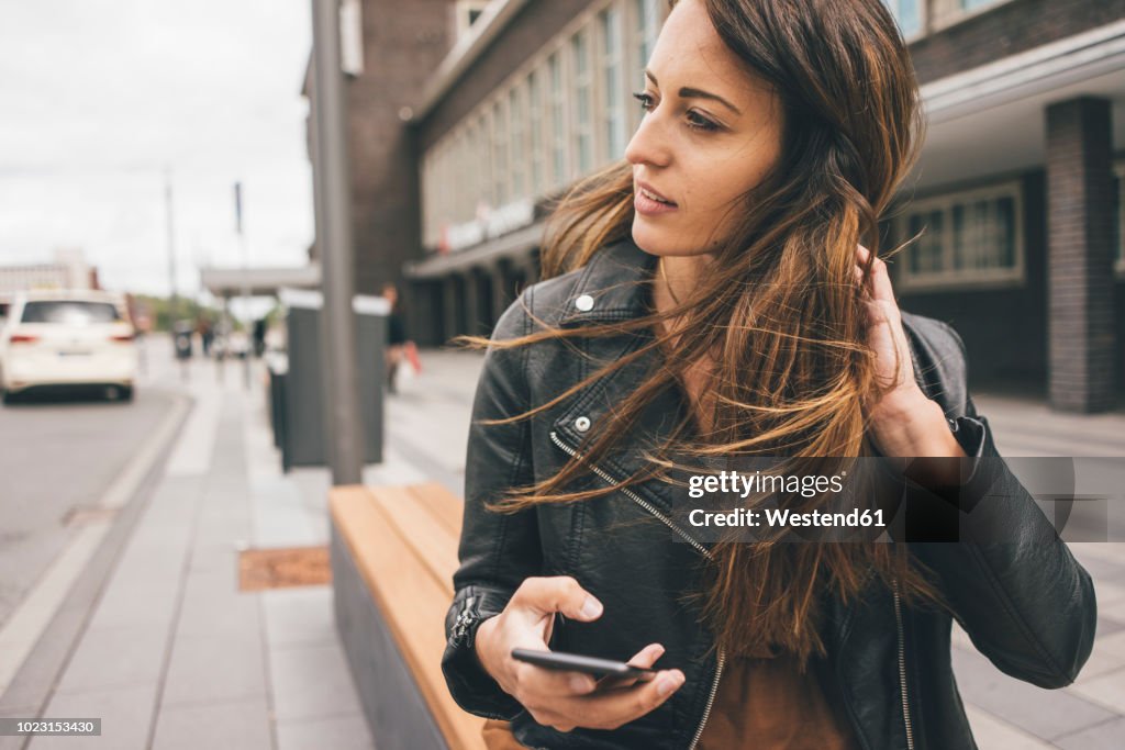
{"type": "Polygon", "coordinates": [[[485,671],[475,645],[480,624],[503,612],[506,604],[506,597],[477,587],[458,591],[446,615],[448,640],[441,671],[450,695],[461,708],[486,719],[512,721],[523,713],[523,705],[485,671]]]}

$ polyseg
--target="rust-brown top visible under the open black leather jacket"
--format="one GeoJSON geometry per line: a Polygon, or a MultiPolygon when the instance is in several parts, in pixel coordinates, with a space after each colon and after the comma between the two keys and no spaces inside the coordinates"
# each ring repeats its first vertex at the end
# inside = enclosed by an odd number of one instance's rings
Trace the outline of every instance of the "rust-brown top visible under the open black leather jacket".
{"type": "MultiPolygon", "coordinates": [[[[843,707],[829,703],[816,666],[791,654],[731,657],[698,750],[857,750],[843,707]]],[[[521,750],[507,722],[487,721],[488,750],[521,750]]]]}

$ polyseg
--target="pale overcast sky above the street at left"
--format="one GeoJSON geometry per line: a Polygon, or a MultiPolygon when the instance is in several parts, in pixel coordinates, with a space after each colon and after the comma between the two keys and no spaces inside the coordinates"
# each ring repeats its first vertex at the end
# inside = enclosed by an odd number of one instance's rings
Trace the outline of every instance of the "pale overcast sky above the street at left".
{"type": "Polygon", "coordinates": [[[310,0],[0,0],[0,264],[81,247],[110,289],[302,265],[313,236],[302,76],[310,0]]]}

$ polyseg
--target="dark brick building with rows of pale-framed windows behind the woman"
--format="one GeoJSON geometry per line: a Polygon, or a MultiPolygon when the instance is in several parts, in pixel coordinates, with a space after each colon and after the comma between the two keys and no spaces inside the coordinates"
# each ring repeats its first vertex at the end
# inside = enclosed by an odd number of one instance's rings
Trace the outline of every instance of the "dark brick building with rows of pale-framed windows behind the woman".
{"type": "MultiPolygon", "coordinates": [[[[928,128],[885,223],[891,241],[926,229],[892,264],[902,307],[957,328],[976,387],[1112,407],[1125,391],[1125,0],[886,2],[928,128]]],[[[353,108],[353,138],[386,128],[390,172],[363,179],[403,186],[392,204],[357,189],[357,226],[393,238],[377,259],[361,242],[360,265],[399,270],[420,343],[486,333],[536,279],[551,201],[623,156],[641,116],[629,92],[666,15],[663,0],[495,0],[428,51],[424,76],[395,69],[410,83],[389,109],[353,108]]]]}

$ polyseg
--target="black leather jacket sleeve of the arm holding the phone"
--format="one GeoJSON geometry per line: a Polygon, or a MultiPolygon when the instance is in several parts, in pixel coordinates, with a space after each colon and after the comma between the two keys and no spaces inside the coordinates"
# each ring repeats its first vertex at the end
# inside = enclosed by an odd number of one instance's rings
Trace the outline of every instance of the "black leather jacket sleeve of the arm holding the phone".
{"type": "MultiPolygon", "coordinates": [[[[530,300],[530,289],[524,297],[530,300]]],[[[496,324],[493,341],[530,333],[523,300],[496,324]]],[[[500,614],[520,584],[540,571],[541,550],[534,510],[493,513],[486,503],[533,480],[530,421],[482,425],[482,419],[515,416],[530,404],[528,346],[489,349],[477,383],[465,463],[465,517],[453,575],[453,603],[446,616],[447,645],[441,667],[453,699],[478,716],[511,721],[523,706],[504,693],[477,660],[474,641],[480,623],[500,614]]]]}

